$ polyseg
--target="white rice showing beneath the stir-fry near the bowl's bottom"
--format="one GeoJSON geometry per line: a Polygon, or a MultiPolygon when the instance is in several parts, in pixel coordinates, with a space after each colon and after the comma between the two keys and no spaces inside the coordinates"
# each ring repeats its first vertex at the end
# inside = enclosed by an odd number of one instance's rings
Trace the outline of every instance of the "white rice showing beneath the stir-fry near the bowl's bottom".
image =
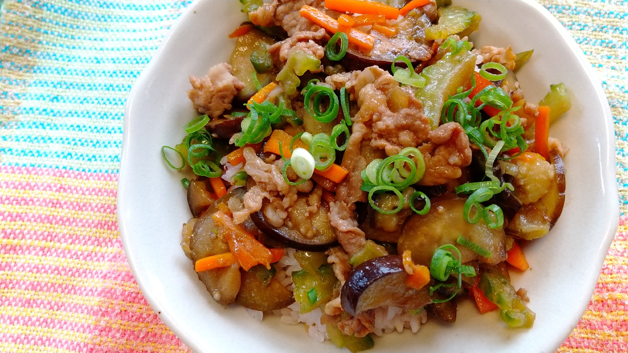
{"type": "MultiPolygon", "coordinates": [[[[295,285],[292,282],[292,273],[300,271],[301,266],[296,261],[294,253],[295,249],[286,249],[281,260],[274,264],[277,273],[275,279],[282,285],[286,286],[288,290],[294,291],[295,285]]],[[[317,341],[323,342],[328,340],[327,326],[320,323],[320,317],[322,315],[321,308],[316,308],[309,313],[299,313],[299,303],[292,303],[290,306],[274,310],[273,314],[279,317],[279,320],[283,323],[289,323],[291,325],[297,325],[302,322],[305,323],[308,334],[310,337],[317,341]]],[[[263,312],[247,309],[249,315],[257,321],[261,321],[263,318],[263,312]]],[[[374,309],[375,312],[375,329],[373,333],[382,336],[389,334],[394,330],[402,332],[404,329],[410,329],[413,333],[416,333],[421,323],[427,321],[427,313],[425,310],[403,310],[397,307],[380,307],[374,309]]]]}

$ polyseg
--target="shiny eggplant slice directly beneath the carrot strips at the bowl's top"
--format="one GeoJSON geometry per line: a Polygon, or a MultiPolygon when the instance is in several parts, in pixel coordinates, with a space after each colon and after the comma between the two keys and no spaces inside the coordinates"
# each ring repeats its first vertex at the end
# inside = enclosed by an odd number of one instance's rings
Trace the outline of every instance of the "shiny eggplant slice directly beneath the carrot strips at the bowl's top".
{"type": "MultiPolygon", "coordinates": [[[[389,38],[371,30],[369,33],[376,38],[373,49],[368,54],[360,52],[350,45],[347,55],[341,63],[348,71],[364,70],[365,67],[377,65],[384,70],[391,70],[391,64],[396,57],[404,55],[409,58],[414,67],[421,60],[429,60],[433,54],[432,41],[425,40],[425,28],[430,26],[430,19],[420,11],[410,11],[404,19],[394,26],[398,34],[389,38]]],[[[406,67],[403,62],[395,63],[397,67],[406,67]]]]}

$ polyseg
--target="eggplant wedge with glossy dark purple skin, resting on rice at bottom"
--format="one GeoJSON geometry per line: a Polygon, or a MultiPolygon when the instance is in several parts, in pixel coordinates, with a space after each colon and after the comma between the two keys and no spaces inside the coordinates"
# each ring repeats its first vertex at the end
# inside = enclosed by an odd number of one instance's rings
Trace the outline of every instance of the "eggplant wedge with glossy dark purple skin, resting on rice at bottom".
{"type": "Polygon", "coordinates": [[[342,286],[342,309],[355,316],[377,307],[416,309],[431,303],[428,288],[415,290],[406,286],[404,281],[407,277],[399,255],[364,261],[351,272],[342,286]]]}

